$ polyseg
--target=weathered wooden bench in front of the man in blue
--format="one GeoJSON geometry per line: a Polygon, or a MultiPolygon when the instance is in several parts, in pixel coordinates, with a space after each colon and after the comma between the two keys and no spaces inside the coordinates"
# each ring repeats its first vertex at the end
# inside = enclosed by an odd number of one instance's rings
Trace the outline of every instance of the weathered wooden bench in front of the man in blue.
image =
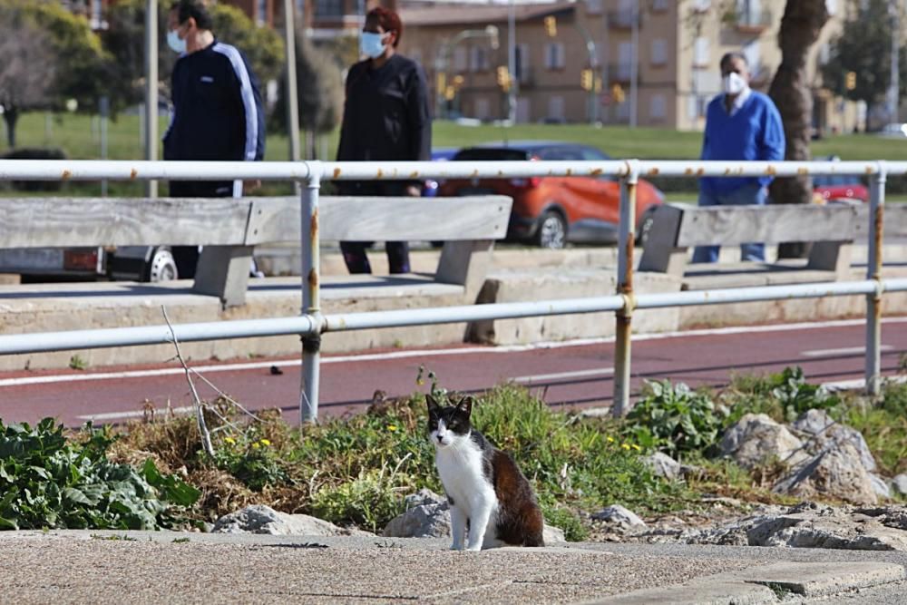
{"type": "MultiPolygon", "coordinates": [[[[780,244],[812,243],[805,266],[825,271],[825,279],[847,278],[851,245],[866,241],[869,231],[868,204],[767,206],[722,206],[699,208],[687,204],[664,204],[653,214],[640,271],[656,271],[682,278],[688,272],[688,249],[695,246],[738,246],[748,242],[780,244]]],[[[907,235],[907,208],[902,204],[884,209],[884,235],[907,235]]],[[[714,267],[694,265],[697,268],[714,267]]],[[[766,265],[769,269],[773,268],[766,265]]],[[[790,270],[789,265],[776,265],[790,270]]]]}

